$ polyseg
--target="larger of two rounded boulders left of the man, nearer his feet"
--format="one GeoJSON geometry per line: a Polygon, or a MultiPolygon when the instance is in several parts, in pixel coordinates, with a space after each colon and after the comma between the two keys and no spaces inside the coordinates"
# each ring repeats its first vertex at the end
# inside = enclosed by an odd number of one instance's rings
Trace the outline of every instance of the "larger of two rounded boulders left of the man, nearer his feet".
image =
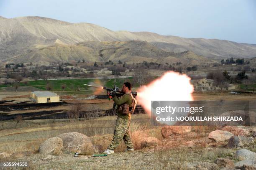
{"type": "Polygon", "coordinates": [[[60,134],[63,141],[63,148],[68,152],[78,152],[84,155],[97,153],[98,149],[92,144],[92,140],[86,135],[78,132],[60,134]]]}

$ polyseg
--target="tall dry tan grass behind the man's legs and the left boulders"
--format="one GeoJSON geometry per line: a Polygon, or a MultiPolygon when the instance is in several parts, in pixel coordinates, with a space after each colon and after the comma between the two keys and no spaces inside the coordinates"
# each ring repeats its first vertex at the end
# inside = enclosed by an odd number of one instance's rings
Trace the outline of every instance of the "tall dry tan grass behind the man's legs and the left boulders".
{"type": "MultiPolygon", "coordinates": [[[[153,130],[149,130],[143,119],[146,115],[134,115],[134,119],[131,121],[131,137],[134,143],[135,149],[141,148],[141,140],[147,136],[153,135],[153,130]],[[142,122],[142,123],[141,123],[142,122]],[[151,134],[148,134],[151,132],[151,134]]],[[[48,124],[41,124],[38,127],[25,127],[20,129],[9,129],[0,131],[0,150],[1,152],[17,152],[17,151],[31,151],[33,153],[38,152],[38,148],[44,140],[55,137],[61,133],[67,132],[79,132],[89,137],[100,136],[98,140],[94,140],[95,145],[101,145],[103,149],[106,149],[112,140],[116,116],[101,117],[97,119],[85,119],[82,121],[76,121],[72,119],[72,122],[55,122],[48,124]],[[104,138],[104,135],[110,134],[111,137],[104,138]],[[31,137],[32,136],[32,137],[31,137]],[[32,138],[32,139],[31,139],[32,138]]],[[[147,118],[146,118],[147,119],[147,118]]],[[[148,122],[150,124],[150,122],[148,122]]],[[[159,131],[160,132],[160,131],[159,131]]],[[[154,132],[156,134],[156,132],[154,132]]],[[[158,134],[160,136],[161,134],[158,134]]],[[[95,138],[96,139],[96,138],[95,138]]],[[[124,151],[126,149],[125,144],[122,142],[117,148],[117,151],[124,151]]]]}

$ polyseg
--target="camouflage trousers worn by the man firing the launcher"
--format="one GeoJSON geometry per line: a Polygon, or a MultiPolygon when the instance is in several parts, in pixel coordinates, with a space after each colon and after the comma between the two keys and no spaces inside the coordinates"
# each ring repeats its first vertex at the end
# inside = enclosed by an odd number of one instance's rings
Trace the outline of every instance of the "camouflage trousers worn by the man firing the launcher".
{"type": "Polygon", "coordinates": [[[122,119],[120,117],[116,119],[114,137],[108,149],[114,150],[116,147],[118,147],[122,139],[125,142],[125,145],[127,146],[128,149],[133,148],[129,127],[130,127],[129,119],[122,119]]]}

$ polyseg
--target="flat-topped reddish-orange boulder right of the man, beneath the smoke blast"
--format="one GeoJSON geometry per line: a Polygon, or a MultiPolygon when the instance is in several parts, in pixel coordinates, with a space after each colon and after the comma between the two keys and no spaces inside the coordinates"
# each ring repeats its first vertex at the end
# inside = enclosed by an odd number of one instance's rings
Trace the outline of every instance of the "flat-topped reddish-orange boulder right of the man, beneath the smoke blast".
{"type": "Polygon", "coordinates": [[[191,126],[164,126],[161,129],[163,137],[168,138],[174,134],[184,134],[191,131],[191,126]]]}

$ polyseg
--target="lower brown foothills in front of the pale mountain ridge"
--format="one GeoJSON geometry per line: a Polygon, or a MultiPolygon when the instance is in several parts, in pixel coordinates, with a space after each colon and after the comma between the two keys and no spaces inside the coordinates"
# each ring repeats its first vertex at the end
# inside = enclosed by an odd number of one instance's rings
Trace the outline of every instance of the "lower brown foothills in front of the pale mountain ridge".
{"type": "Polygon", "coordinates": [[[12,58],[14,62],[31,61],[115,61],[126,63],[168,62],[168,63],[210,63],[206,57],[198,56],[191,51],[173,53],[163,51],[146,41],[84,41],[74,45],[54,43],[52,46],[45,46],[27,51],[19,57],[12,58]],[[195,61],[195,62],[194,62],[195,61]]]}

